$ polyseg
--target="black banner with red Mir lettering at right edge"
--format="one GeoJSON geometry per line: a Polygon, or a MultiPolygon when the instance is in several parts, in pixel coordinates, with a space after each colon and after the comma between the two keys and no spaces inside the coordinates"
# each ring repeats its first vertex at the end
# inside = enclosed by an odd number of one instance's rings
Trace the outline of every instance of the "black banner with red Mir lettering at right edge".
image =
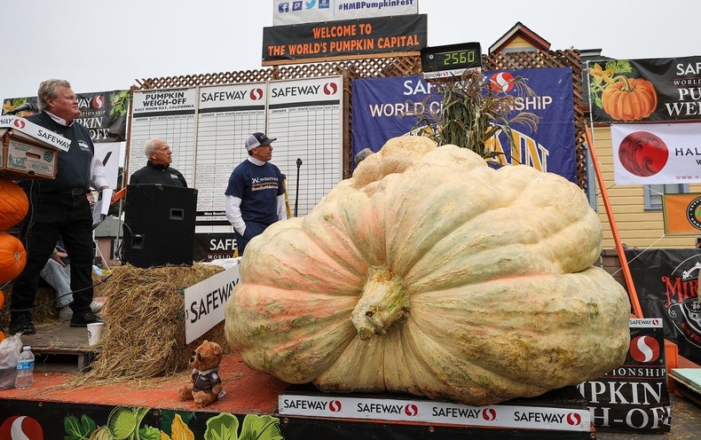
{"type": "Polygon", "coordinates": [[[626,259],[645,318],[662,318],[665,338],[679,354],[701,363],[701,249],[626,249],[626,259]]]}

